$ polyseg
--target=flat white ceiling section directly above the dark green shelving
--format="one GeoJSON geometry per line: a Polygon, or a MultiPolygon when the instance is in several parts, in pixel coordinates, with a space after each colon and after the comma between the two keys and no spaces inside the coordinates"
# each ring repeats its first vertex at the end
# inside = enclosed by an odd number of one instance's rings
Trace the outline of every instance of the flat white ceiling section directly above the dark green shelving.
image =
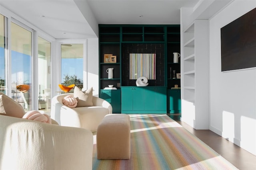
{"type": "Polygon", "coordinates": [[[179,24],[180,8],[199,0],[88,0],[98,23],[179,24]],[[139,17],[143,16],[143,17],[139,17]]]}

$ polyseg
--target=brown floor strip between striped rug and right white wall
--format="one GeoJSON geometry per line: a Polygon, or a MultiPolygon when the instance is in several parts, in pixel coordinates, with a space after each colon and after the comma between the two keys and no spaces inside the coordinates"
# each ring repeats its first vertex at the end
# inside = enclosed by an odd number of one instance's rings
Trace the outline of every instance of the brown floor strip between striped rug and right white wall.
{"type": "Polygon", "coordinates": [[[256,156],[238,147],[234,143],[217,135],[210,130],[195,130],[188,124],[180,121],[180,114],[169,115],[172,119],[180,123],[190,133],[198,137],[218,154],[232,163],[240,170],[256,170],[256,156]]]}

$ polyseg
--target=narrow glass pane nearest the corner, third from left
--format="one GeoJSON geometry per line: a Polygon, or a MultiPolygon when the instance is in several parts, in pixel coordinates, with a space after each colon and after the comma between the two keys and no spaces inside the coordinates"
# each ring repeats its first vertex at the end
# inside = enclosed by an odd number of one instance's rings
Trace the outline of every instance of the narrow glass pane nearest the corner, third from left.
{"type": "Polygon", "coordinates": [[[46,113],[51,107],[51,43],[38,37],[38,108],[46,113]]]}

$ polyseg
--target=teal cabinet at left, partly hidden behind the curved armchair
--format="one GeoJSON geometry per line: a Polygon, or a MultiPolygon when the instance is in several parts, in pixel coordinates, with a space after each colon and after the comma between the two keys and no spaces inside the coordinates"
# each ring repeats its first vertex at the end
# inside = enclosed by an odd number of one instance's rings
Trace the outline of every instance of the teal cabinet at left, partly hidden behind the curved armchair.
{"type": "Polygon", "coordinates": [[[121,90],[100,90],[100,98],[111,104],[113,113],[121,113],[121,90]]]}

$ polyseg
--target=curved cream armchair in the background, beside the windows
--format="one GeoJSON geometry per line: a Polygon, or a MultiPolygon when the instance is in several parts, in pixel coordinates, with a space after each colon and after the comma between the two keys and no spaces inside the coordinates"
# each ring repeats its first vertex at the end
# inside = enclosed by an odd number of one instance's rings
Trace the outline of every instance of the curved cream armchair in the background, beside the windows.
{"type": "Polygon", "coordinates": [[[80,127],[91,132],[97,127],[107,114],[112,114],[112,106],[106,100],[93,96],[93,106],[70,108],[62,103],[65,96],[72,93],[60,94],[52,98],[51,118],[62,126],[80,127]]]}

